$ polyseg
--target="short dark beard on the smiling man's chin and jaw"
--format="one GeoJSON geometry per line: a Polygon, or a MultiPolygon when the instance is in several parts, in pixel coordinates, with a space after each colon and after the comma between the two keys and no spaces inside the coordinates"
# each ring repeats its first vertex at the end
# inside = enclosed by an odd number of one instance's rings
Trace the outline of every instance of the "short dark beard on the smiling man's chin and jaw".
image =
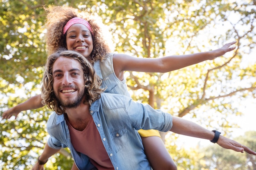
{"type": "Polygon", "coordinates": [[[76,98],[73,100],[70,99],[61,99],[61,97],[59,97],[58,95],[56,95],[56,98],[58,99],[58,101],[60,102],[61,106],[63,108],[77,108],[79,106],[79,104],[81,104],[83,97],[84,97],[84,89],[82,91],[80,91],[76,98]]]}

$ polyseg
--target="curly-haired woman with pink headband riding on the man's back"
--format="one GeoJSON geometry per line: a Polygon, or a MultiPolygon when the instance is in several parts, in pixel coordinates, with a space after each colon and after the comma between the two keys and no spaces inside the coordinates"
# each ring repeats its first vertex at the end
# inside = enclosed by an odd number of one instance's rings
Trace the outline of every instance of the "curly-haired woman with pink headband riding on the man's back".
{"type": "MultiPolygon", "coordinates": [[[[47,50],[54,53],[59,48],[66,48],[81,53],[93,65],[102,79],[103,88],[107,93],[129,95],[124,71],[140,72],[168,72],[180,69],[204,60],[214,58],[232,51],[229,47],[235,42],[225,44],[222,48],[204,53],[182,56],[167,56],[155,59],[137,58],[125,54],[114,54],[110,47],[103,24],[97,18],[85,11],[78,11],[71,7],[52,7],[47,13],[47,50]]],[[[31,97],[26,102],[10,108],[3,114],[3,118],[17,117],[22,110],[40,108],[43,106],[40,95],[31,97]]],[[[176,170],[177,167],[167,152],[157,131],[140,131],[150,165],[154,170],[176,170]]],[[[73,166],[72,169],[76,167],[73,166]]]]}

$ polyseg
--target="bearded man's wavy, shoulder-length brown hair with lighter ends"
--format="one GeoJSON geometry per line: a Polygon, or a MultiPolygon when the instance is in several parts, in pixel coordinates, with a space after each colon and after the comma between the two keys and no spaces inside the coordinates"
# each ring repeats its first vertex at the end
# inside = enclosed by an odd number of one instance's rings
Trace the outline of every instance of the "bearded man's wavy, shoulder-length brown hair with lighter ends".
{"type": "Polygon", "coordinates": [[[95,100],[101,97],[101,93],[105,89],[101,88],[101,78],[97,76],[92,64],[80,53],[70,50],[61,49],[56,53],[52,53],[47,57],[45,64],[45,72],[43,74],[43,86],[42,86],[42,99],[43,104],[48,108],[54,110],[58,115],[65,113],[65,108],[61,106],[61,103],[56,98],[53,89],[53,64],[59,57],[69,57],[78,61],[83,68],[83,79],[85,82],[85,100],[84,104],[92,104],[95,100]]]}

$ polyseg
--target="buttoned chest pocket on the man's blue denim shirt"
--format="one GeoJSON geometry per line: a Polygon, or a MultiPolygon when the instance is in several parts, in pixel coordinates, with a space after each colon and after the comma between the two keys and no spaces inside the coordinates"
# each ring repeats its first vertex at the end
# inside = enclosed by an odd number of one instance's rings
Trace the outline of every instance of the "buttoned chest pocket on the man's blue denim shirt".
{"type": "Polygon", "coordinates": [[[115,143],[116,152],[119,152],[119,150],[126,146],[126,143],[128,142],[126,127],[112,130],[110,135],[115,143]]]}

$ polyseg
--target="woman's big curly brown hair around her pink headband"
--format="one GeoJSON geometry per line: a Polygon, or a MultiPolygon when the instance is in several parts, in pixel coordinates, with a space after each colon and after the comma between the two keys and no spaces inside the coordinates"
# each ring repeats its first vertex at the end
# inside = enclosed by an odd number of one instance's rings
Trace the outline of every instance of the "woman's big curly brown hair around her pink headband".
{"type": "Polygon", "coordinates": [[[90,57],[87,58],[91,63],[104,60],[107,54],[114,49],[114,47],[110,46],[113,44],[112,36],[109,31],[106,31],[106,25],[102,23],[102,18],[98,15],[62,6],[45,8],[45,11],[47,12],[46,45],[48,55],[56,52],[59,48],[67,49],[66,35],[63,35],[63,27],[74,17],[87,20],[93,30],[93,50],[90,57]]]}

